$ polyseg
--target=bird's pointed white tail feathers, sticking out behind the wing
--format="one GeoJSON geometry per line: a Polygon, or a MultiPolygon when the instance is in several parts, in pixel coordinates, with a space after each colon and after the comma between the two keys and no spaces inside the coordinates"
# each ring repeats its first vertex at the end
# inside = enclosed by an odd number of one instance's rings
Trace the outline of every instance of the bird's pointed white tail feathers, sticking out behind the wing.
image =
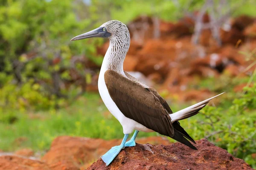
{"type": "MultiPolygon", "coordinates": [[[[221,93],[224,94],[225,92],[221,93]]],[[[172,122],[178,121],[178,120],[182,120],[182,119],[187,119],[191,116],[194,116],[195,114],[197,114],[202,108],[204,108],[207,103],[211,100],[214,99],[215,97],[220,96],[221,94],[218,94],[217,96],[213,96],[209,99],[206,99],[202,102],[199,102],[195,105],[189,106],[188,108],[184,108],[180,111],[177,111],[175,113],[169,114],[172,122]]]]}

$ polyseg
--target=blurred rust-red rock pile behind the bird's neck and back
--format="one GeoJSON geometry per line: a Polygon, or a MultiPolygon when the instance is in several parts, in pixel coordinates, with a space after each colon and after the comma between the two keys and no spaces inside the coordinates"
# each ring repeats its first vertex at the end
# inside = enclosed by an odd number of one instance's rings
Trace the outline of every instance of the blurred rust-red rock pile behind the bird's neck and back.
{"type": "MultiPolygon", "coordinates": [[[[124,70],[141,72],[149,80],[160,84],[157,86],[158,90],[170,94],[166,95],[167,98],[177,96],[175,100],[184,101],[186,97],[183,95],[197,89],[198,79],[219,77],[221,74],[246,77],[256,68],[253,66],[247,70],[252,63],[248,56],[256,48],[255,17],[230,18],[229,24],[224,24],[219,30],[221,46],[209,28],[202,30],[198,44],[193,44],[195,22],[189,16],[176,23],[158,20],[159,36],[154,35],[155,21],[153,17],[144,16],[127,24],[131,45],[124,62],[124,70]]],[[[209,16],[205,14],[203,23],[209,22],[209,16]]],[[[108,46],[107,41],[97,49],[97,54],[104,56],[108,46]]],[[[86,67],[93,70],[95,68],[91,64],[86,67]]],[[[97,79],[92,79],[92,82],[92,85],[87,85],[88,91],[97,90],[97,79]]],[[[200,101],[200,95],[198,93],[190,97],[200,101]]]]}

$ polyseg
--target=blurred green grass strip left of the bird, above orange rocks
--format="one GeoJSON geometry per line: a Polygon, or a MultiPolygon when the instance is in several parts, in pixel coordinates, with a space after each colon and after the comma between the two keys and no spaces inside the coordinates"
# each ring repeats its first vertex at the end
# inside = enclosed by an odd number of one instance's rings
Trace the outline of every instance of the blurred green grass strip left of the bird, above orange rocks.
{"type": "MultiPolygon", "coordinates": [[[[90,138],[122,138],[122,126],[108,112],[98,94],[85,94],[73,105],[58,111],[20,113],[9,111],[0,122],[0,149],[13,151],[23,147],[33,150],[49,149],[57,136],[85,136],[90,138]]],[[[2,115],[3,116],[3,115],[2,115]]],[[[143,133],[139,136],[156,136],[143,133]]]]}

